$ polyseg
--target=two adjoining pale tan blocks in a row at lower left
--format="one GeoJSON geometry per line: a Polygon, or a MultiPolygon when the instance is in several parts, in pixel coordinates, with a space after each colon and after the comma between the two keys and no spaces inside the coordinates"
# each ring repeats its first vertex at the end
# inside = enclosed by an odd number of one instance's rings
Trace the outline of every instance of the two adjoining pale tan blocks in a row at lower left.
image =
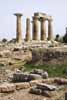
{"type": "Polygon", "coordinates": [[[20,89],[28,89],[30,88],[29,83],[3,83],[0,85],[0,93],[11,93],[20,89]]]}

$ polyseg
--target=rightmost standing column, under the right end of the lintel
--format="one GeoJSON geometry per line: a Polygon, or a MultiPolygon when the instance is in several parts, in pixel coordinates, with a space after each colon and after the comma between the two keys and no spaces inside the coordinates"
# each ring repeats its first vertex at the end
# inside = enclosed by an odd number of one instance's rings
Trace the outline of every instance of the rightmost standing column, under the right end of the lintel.
{"type": "Polygon", "coordinates": [[[53,27],[52,27],[52,17],[48,19],[48,40],[52,40],[53,37],[53,27]]]}

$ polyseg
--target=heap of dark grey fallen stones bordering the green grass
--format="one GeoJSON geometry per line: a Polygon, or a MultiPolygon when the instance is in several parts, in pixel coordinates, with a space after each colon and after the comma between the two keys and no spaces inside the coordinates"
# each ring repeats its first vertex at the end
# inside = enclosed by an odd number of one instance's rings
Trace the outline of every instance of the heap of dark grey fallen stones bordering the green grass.
{"type": "Polygon", "coordinates": [[[34,70],[30,73],[28,72],[15,72],[12,77],[13,82],[29,82],[32,80],[46,79],[48,78],[48,73],[42,70],[34,70]]]}

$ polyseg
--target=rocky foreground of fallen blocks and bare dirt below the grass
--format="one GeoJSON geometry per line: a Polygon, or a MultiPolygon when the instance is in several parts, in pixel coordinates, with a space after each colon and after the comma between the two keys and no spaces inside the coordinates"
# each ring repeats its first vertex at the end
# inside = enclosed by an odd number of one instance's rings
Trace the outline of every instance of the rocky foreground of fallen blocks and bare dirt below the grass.
{"type": "Polygon", "coordinates": [[[11,81],[1,82],[0,100],[64,100],[67,79],[48,78],[48,73],[42,70],[31,73],[18,70],[9,77],[11,81]]]}

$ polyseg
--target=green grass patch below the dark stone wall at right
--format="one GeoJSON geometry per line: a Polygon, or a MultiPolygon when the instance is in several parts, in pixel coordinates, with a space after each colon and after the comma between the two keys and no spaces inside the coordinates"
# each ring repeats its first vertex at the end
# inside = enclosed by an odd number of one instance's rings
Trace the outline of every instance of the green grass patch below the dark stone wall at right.
{"type": "Polygon", "coordinates": [[[31,71],[33,69],[43,69],[49,73],[50,77],[66,77],[67,78],[67,65],[33,65],[33,64],[25,64],[25,69],[27,71],[31,71]]]}

